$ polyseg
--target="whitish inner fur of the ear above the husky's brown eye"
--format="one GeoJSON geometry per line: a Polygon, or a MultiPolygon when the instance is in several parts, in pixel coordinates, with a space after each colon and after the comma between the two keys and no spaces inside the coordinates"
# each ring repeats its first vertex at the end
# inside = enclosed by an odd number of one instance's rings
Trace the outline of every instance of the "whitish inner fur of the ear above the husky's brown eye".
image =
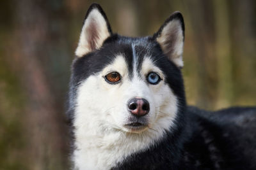
{"type": "Polygon", "coordinates": [[[90,47],[89,42],[92,41],[92,39],[90,39],[90,36],[88,36],[88,34],[91,33],[91,27],[95,26],[94,24],[96,25],[96,27],[94,27],[93,29],[97,31],[98,35],[98,38],[96,39],[96,49],[100,48],[104,40],[110,36],[106,20],[96,8],[93,9],[84,21],[84,25],[79,38],[79,43],[76,48],[77,57],[82,57],[86,53],[95,50],[90,47]]]}

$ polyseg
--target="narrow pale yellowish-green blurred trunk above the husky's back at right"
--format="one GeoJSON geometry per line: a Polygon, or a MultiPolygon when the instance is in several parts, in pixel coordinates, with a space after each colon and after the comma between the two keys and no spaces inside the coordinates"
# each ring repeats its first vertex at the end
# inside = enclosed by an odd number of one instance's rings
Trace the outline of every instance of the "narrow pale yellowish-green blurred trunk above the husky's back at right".
{"type": "Polygon", "coordinates": [[[223,108],[230,106],[233,99],[232,81],[232,56],[230,52],[230,19],[228,2],[223,0],[213,1],[216,43],[215,52],[217,58],[218,73],[218,102],[217,107],[223,108]]]}

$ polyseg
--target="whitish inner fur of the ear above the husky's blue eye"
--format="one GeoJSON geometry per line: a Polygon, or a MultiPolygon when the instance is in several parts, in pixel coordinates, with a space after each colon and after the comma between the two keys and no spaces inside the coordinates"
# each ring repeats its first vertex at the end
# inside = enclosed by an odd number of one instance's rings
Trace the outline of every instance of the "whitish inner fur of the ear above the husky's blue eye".
{"type": "Polygon", "coordinates": [[[183,33],[182,27],[180,25],[179,20],[172,20],[167,25],[164,26],[161,35],[157,38],[157,42],[163,48],[163,51],[166,52],[166,55],[172,60],[178,67],[183,67],[183,60],[182,60],[182,52],[183,52],[183,33]],[[175,43],[172,53],[170,53],[170,49],[168,49],[168,45],[166,45],[166,41],[170,41],[172,38],[170,35],[175,35],[177,39],[175,39],[175,43]]]}

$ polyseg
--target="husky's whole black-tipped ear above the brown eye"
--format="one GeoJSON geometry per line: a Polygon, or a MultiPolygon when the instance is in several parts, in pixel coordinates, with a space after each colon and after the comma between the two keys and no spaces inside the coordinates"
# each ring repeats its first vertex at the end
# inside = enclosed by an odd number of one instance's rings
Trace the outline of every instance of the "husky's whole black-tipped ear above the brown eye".
{"type": "Polygon", "coordinates": [[[97,50],[106,38],[111,36],[111,27],[99,4],[93,3],[84,18],[83,28],[76,48],[77,57],[97,50]]]}

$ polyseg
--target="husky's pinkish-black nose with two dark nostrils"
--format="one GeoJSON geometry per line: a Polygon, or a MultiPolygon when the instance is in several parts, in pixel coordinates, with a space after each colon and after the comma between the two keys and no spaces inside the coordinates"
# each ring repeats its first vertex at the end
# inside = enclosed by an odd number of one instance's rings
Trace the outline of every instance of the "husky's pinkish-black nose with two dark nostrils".
{"type": "Polygon", "coordinates": [[[128,110],[131,111],[132,115],[138,117],[147,115],[149,109],[149,103],[146,99],[136,97],[128,101],[128,110]]]}

